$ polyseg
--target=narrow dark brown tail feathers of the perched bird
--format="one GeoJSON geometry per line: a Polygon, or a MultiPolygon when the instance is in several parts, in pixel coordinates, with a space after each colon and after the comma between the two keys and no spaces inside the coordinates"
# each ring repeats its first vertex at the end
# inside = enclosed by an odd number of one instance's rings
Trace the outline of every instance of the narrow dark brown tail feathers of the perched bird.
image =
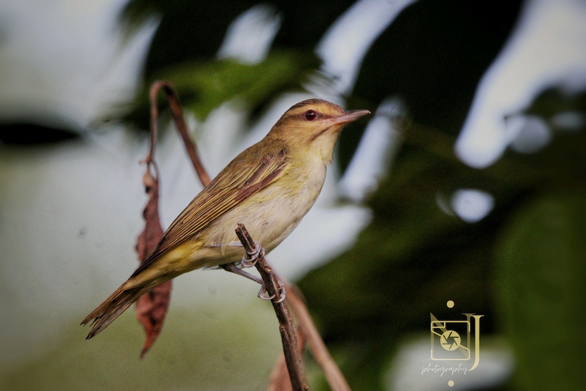
{"type": "Polygon", "coordinates": [[[140,285],[138,287],[127,288],[127,283],[124,283],[114,291],[104,302],[91,311],[89,315],[81,322],[81,325],[86,325],[91,321],[91,331],[86,339],[90,339],[98,332],[105,329],[110,323],[122,314],[130,305],[137,301],[139,297],[147,293],[151,287],[140,285]]]}

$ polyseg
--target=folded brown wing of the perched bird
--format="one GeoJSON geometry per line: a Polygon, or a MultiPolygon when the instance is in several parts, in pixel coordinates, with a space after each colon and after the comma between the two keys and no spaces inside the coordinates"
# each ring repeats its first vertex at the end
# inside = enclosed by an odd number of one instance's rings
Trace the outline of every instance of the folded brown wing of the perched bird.
{"type": "MultiPolygon", "coordinates": [[[[236,160],[237,158],[234,159],[236,160]]],[[[193,236],[254,193],[277,181],[285,174],[288,165],[285,151],[281,150],[265,154],[254,165],[226,166],[171,223],[155,250],[131,277],[144,270],[165,251],[193,236]]]]}

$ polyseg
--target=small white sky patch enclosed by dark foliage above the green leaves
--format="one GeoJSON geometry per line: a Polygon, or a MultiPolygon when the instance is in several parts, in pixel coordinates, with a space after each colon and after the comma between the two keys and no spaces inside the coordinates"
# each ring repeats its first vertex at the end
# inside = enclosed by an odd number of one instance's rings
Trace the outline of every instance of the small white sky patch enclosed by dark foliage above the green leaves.
{"type": "Polygon", "coordinates": [[[280,26],[281,17],[274,8],[255,5],[230,24],[218,57],[232,57],[244,64],[263,62],[280,26]]]}

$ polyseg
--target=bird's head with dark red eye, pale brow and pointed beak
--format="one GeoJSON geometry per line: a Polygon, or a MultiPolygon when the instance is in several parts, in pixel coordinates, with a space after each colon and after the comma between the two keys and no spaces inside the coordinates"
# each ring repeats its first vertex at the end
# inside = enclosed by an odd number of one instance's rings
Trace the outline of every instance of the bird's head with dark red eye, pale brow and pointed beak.
{"type": "Polygon", "coordinates": [[[333,148],[344,125],[370,114],[368,110],[345,111],[322,99],[308,99],[285,111],[269,136],[282,140],[295,152],[332,161],[333,148]]]}

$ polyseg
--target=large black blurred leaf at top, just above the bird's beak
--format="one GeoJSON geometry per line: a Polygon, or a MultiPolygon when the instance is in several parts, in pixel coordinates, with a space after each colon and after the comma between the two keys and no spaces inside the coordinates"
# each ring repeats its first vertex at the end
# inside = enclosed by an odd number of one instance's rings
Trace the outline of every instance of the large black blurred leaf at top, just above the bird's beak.
{"type": "Polygon", "coordinates": [[[457,135],[519,8],[519,1],[415,2],[373,43],[355,96],[376,106],[399,95],[415,122],[457,135]]]}

